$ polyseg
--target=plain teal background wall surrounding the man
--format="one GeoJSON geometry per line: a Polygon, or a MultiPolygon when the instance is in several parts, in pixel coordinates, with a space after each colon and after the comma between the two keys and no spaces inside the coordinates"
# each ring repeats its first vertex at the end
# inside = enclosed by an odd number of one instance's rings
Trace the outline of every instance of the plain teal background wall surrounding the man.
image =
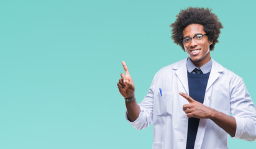
{"type": "MultiPolygon", "coordinates": [[[[152,148],[152,126],[124,119],[121,61],[140,102],[160,68],[187,56],[169,25],[188,6],[217,14],[211,55],[256,103],[256,1],[1,0],[0,148],[152,148]]],[[[255,147],[229,137],[229,148],[255,147]]]]}

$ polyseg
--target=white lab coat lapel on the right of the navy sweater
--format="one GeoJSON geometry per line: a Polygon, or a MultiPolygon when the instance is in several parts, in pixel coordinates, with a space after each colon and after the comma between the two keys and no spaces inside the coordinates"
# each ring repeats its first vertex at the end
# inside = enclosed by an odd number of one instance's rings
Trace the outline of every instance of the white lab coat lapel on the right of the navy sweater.
{"type": "Polygon", "coordinates": [[[213,83],[216,81],[217,78],[219,78],[219,73],[223,71],[223,68],[219,63],[213,60],[213,66],[211,68],[211,73],[208,79],[208,83],[206,86],[206,92],[208,89],[213,85],[213,83]]]}

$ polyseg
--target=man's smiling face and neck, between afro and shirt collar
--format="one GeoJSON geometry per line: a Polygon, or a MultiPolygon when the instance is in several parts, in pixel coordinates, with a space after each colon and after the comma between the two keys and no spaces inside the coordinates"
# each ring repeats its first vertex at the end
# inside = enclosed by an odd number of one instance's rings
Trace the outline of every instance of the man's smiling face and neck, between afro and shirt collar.
{"type": "MultiPolygon", "coordinates": [[[[194,35],[206,34],[204,27],[201,24],[190,24],[183,30],[183,38],[194,37],[194,35]]],[[[213,42],[208,40],[208,36],[204,35],[203,40],[196,42],[193,38],[190,43],[185,44],[184,47],[194,65],[200,67],[210,60],[209,46],[213,42]]]]}

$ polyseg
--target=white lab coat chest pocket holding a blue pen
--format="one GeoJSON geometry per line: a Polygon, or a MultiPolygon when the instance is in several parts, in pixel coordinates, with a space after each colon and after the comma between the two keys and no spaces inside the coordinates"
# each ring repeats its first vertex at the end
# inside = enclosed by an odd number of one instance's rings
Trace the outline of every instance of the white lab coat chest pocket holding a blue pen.
{"type": "Polygon", "coordinates": [[[155,111],[159,116],[172,115],[173,94],[171,92],[163,92],[155,97],[155,111]]]}

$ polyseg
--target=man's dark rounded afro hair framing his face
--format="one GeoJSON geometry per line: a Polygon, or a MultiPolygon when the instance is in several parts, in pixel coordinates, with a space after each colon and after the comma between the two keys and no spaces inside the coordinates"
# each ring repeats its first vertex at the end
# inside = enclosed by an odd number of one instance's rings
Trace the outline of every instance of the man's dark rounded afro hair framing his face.
{"type": "Polygon", "coordinates": [[[208,35],[208,39],[213,42],[210,45],[210,50],[212,51],[215,43],[219,42],[217,38],[219,38],[223,26],[216,14],[213,14],[211,11],[212,9],[204,9],[203,7],[188,7],[185,10],[181,10],[176,16],[175,22],[170,25],[172,27],[171,38],[173,38],[174,42],[185,51],[181,42],[183,30],[190,24],[201,24],[204,27],[204,32],[208,35]]]}

